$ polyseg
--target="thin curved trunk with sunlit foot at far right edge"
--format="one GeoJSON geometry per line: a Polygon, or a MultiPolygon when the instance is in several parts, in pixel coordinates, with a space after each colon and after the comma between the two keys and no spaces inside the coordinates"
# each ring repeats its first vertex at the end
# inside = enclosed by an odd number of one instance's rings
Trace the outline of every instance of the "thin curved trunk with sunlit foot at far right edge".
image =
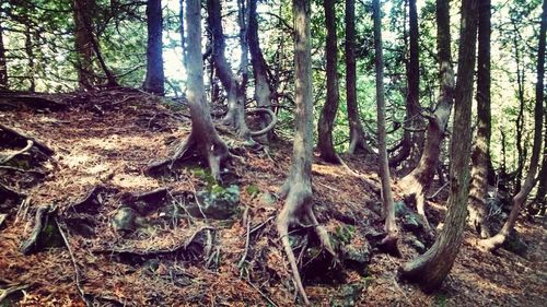
{"type": "Polygon", "coordinates": [[[539,28],[539,46],[537,48],[537,82],[536,82],[536,102],[534,107],[534,145],[532,147],[532,157],[529,160],[528,173],[524,185],[513,197],[513,208],[509,214],[508,221],[503,224],[500,232],[488,239],[480,240],[479,244],[487,250],[494,250],[499,248],[508,237],[509,233],[513,231],[516,219],[521,213],[522,205],[526,202],[532,188],[535,185],[536,172],[539,164],[539,154],[542,152],[542,130],[543,130],[543,113],[544,113],[544,76],[545,76],[545,37],[547,28],[547,0],[543,1],[542,9],[542,25],[539,28]]]}

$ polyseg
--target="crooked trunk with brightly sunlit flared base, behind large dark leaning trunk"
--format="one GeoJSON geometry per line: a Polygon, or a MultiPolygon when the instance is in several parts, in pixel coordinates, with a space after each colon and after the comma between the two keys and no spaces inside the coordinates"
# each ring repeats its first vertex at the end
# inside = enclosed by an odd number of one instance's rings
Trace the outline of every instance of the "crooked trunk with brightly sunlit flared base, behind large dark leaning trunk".
{"type": "Polygon", "coordinates": [[[439,98],[434,113],[428,118],[427,138],[420,161],[416,168],[399,181],[399,187],[405,191],[406,197],[416,200],[418,213],[427,226],[429,226],[429,223],[424,213],[426,192],[433,181],[446,123],[454,103],[454,70],[450,49],[450,12],[446,1],[437,2],[437,49],[441,84],[439,98]]]}

